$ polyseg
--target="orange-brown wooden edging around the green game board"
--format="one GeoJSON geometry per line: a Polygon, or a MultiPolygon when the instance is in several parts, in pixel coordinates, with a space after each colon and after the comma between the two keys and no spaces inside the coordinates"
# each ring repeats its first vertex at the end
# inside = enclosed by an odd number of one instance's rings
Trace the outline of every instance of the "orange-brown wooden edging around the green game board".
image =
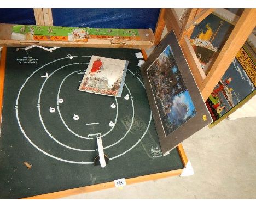
{"type": "MultiPolygon", "coordinates": [[[[2,48],[1,61],[0,61],[0,81],[1,81],[0,82],[0,121],[2,120],[1,115],[2,115],[2,102],[3,102],[3,89],[4,89],[5,59],[6,59],[6,51],[7,51],[6,49],[7,49],[6,47],[2,48]]],[[[147,55],[144,50],[142,50],[142,53],[143,53],[144,59],[147,59],[147,55]]],[[[179,152],[179,156],[181,157],[183,166],[185,167],[188,163],[188,158],[185,154],[182,144],[179,144],[177,146],[177,150],[179,152]]],[[[130,185],[132,183],[156,180],[156,179],[166,178],[166,177],[170,177],[170,176],[177,176],[177,175],[181,175],[183,170],[184,169],[177,169],[177,170],[171,170],[171,171],[162,172],[162,173],[138,176],[135,178],[126,179],[126,184],[130,185]]],[[[88,192],[93,192],[93,191],[100,191],[103,189],[114,188],[114,187],[115,187],[115,183],[114,183],[114,181],[112,181],[112,182],[91,185],[91,186],[67,189],[67,190],[59,191],[59,192],[36,195],[36,196],[28,197],[25,199],[56,199],[56,198],[67,197],[70,195],[88,193],[88,192]]]]}

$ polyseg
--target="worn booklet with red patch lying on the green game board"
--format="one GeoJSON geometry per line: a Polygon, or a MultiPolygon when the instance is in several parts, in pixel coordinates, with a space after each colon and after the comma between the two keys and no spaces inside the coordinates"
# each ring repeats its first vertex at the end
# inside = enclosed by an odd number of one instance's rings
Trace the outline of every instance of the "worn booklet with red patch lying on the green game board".
{"type": "Polygon", "coordinates": [[[92,56],[79,90],[121,97],[128,63],[127,60],[92,56]]]}

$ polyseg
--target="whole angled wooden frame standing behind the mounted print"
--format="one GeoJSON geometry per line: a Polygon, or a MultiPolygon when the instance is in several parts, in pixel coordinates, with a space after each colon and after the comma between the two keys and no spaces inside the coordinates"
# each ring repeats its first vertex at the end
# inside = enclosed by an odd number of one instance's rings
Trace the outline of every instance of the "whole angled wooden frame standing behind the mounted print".
{"type": "Polygon", "coordinates": [[[161,9],[160,17],[162,19],[158,20],[160,25],[156,26],[156,31],[158,33],[155,34],[155,36],[161,36],[159,33],[162,33],[161,28],[163,27],[163,22],[168,31],[171,29],[174,30],[190,70],[194,75],[197,86],[200,88],[202,97],[205,101],[208,99],[212,90],[224,75],[237,52],[256,26],[256,9],[245,9],[241,17],[232,14],[226,9],[187,9],[184,22],[181,22],[178,19],[174,9],[161,9]],[[208,74],[205,75],[193,48],[190,47],[189,38],[194,27],[211,13],[214,13],[232,25],[235,25],[235,28],[232,30],[222,50],[220,50],[209,66],[208,74]]]}

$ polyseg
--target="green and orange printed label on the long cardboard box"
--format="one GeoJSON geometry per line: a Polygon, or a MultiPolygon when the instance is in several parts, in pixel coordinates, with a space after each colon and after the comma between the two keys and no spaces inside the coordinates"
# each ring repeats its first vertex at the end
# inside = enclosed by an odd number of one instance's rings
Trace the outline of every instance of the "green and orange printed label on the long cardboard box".
{"type": "Polygon", "coordinates": [[[89,38],[140,40],[137,29],[14,25],[12,31],[14,40],[88,42],[89,38]]]}

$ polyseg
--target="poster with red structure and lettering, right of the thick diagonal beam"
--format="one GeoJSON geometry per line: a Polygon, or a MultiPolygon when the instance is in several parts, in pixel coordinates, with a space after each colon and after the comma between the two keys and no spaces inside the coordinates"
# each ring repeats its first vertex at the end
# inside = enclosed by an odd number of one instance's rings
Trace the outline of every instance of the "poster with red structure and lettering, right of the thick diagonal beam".
{"type": "Polygon", "coordinates": [[[206,101],[213,123],[225,119],[256,94],[255,53],[245,44],[206,101]]]}

